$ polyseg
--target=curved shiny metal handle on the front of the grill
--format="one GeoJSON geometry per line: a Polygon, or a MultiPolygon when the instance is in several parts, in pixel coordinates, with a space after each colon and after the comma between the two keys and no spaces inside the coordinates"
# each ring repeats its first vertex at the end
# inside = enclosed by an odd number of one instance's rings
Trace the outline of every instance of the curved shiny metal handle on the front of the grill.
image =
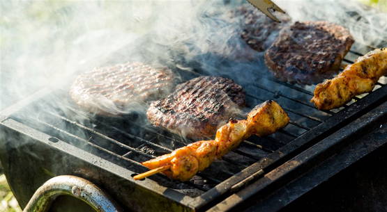
{"type": "Polygon", "coordinates": [[[81,199],[98,212],[123,211],[103,190],[86,179],[61,175],[53,177],[36,190],[23,212],[46,212],[59,195],[81,199]]]}

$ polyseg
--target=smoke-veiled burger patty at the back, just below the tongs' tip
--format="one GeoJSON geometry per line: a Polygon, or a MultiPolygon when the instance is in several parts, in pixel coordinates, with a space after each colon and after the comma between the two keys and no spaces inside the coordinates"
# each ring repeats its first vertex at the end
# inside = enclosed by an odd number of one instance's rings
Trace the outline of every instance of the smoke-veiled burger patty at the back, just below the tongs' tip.
{"type": "Polygon", "coordinates": [[[234,10],[232,16],[241,18],[241,38],[256,51],[264,51],[270,47],[280,29],[290,21],[287,15],[276,13],[275,16],[281,23],[274,22],[250,4],[234,10]]]}

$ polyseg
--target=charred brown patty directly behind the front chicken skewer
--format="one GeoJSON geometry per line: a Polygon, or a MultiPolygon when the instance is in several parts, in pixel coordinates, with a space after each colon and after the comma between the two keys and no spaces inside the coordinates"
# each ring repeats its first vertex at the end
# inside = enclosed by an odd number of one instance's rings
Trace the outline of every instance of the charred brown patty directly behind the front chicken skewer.
{"type": "Polygon", "coordinates": [[[241,85],[219,76],[199,76],[176,86],[176,90],[153,101],[149,121],[188,138],[212,138],[245,104],[241,85]]]}

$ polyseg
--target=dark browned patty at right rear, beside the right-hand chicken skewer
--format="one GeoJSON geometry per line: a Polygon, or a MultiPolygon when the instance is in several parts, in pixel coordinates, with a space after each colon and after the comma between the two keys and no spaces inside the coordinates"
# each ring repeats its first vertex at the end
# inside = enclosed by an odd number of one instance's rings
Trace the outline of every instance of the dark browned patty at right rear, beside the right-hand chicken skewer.
{"type": "Polygon", "coordinates": [[[274,75],[291,83],[317,83],[338,72],[354,39],[329,22],[296,22],[284,27],[265,54],[274,75]]]}

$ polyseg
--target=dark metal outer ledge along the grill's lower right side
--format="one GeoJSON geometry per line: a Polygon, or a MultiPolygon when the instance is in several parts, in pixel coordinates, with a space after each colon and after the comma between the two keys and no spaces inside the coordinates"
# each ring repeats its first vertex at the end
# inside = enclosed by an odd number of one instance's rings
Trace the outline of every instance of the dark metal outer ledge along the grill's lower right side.
{"type": "Polygon", "coordinates": [[[279,211],[363,156],[386,145],[386,111],[387,102],[384,102],[209,211],[236,211],[236,208],[241,211],[243,206],[249,206],[246,211],[279,211]]]}

